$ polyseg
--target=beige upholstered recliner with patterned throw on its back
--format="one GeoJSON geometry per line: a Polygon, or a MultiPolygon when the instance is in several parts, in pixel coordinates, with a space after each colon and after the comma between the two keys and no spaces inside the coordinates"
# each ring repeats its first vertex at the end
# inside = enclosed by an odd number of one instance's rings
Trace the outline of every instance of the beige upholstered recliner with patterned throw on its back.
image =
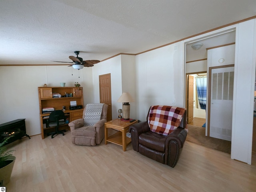
{"type": "Polygon", "coordinates": [[[104,138],[107,111],[107,104],[87,104],[83,111],[83,118],[68,123],[72,143],[87,146],[100,144],[104,138]]]}

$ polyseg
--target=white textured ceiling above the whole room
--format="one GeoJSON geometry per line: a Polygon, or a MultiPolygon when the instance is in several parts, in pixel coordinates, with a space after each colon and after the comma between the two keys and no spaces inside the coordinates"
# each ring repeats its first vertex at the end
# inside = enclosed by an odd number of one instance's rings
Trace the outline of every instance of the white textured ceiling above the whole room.
{"type": "Polygon", "coordinates": [[[0,65],[136,54],[255,15],[255,0],[0,0],[0,65]]]}

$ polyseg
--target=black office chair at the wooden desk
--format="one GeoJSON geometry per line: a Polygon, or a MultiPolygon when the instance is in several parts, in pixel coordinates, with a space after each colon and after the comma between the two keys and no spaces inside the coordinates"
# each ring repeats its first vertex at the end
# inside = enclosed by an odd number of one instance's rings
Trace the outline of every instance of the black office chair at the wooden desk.
{"type": "Polygon", "coordinates": [[[47,135],[52,135],[52,138],[54,135],[58,134],[58,133],[62,133],[62,135],[64,135],[64,132],[66,132],[66,130],[61,130],[59,131],[59,126],[60,125],[63,125],[65,124],[65,121],[66,121],[66,117],[65,117],[65,114],[62,110],[55,110],[55,111],[52,111],[50,113],[50,116],[49,116],[49,122],[48,122],[48,126],[49,127],[55,127],[55,131],[52,132],[52,133],[47,133],[47,135]]]}

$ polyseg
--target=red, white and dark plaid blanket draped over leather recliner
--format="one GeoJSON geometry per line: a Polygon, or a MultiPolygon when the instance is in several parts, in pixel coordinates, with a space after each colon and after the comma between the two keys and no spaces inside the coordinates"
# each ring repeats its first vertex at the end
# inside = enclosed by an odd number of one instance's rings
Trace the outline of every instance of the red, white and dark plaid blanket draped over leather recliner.
{"type": "Polygon", "coordinates": [[[150,130],[162,135],[169,135],[180,125],[185,110],[185,108],[172,106],[151,106],[148,114],[150,130]]]}

